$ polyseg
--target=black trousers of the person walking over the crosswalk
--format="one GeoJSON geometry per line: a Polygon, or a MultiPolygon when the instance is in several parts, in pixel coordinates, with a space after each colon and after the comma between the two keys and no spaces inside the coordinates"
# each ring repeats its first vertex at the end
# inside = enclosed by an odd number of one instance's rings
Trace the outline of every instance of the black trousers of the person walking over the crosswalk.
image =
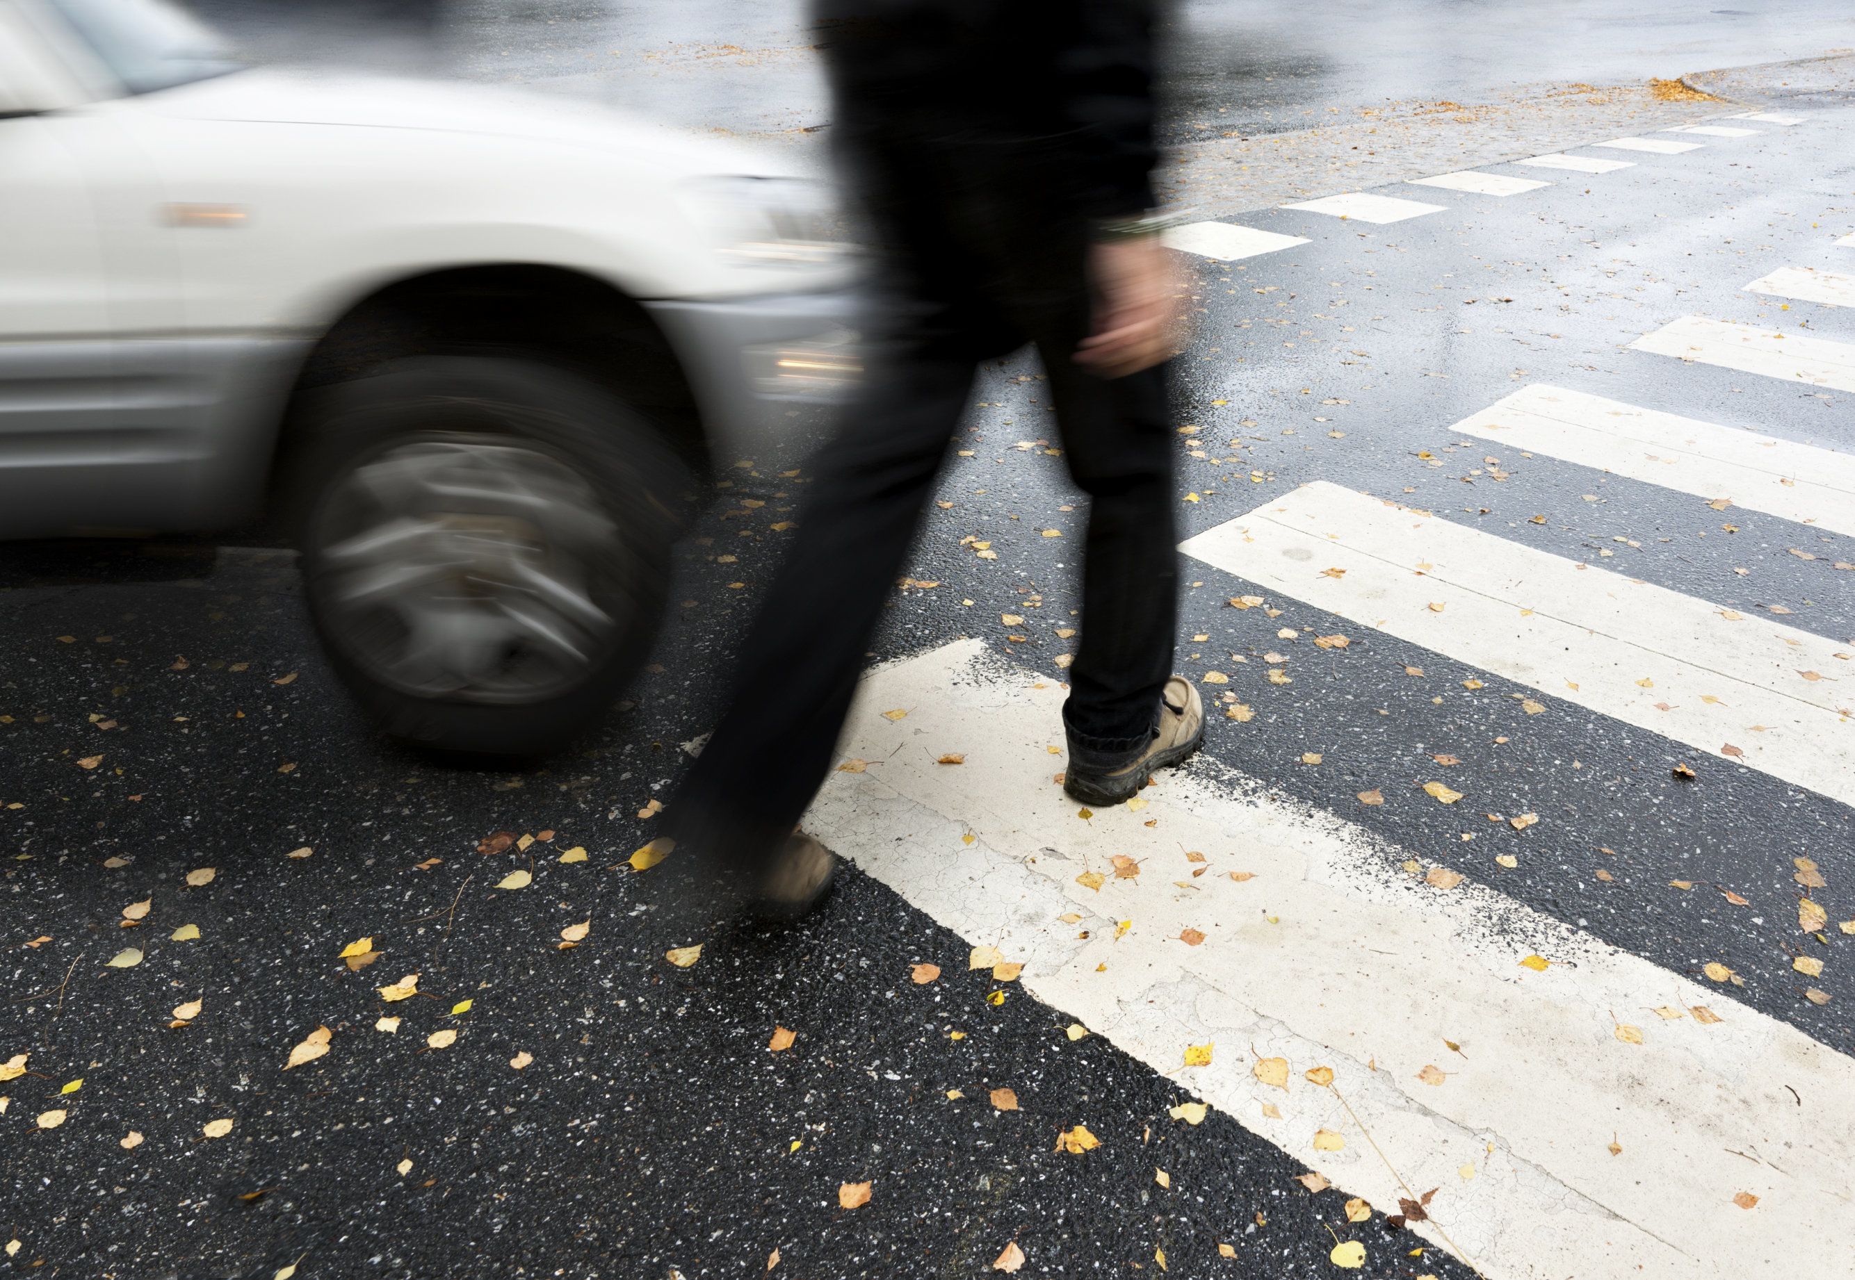
{"type": "MultiPolygon", "coordinates": [[[[1154,731],[1178,612],[1167,375],[1106,380],[1072,364],[1091,321],[1087,228],[994,191],[955,182],[922,189],[924,204],[887,202],[907,211],[883,226],[866,380],[809,467],[811,493],[740,653],[729,710],[664,814],[697,853],[751,868],[811,803],[976,364],[1026,343],[1043,356],[1048,380],[1037,386],[1057,410],[1063,460],[1089,495],[1081,644],[1063,720],[1072,742],[1096,751],[1141,746],[1154,731]]],[[[981,571],[1009,573],[1011,555],[981,571]]]]}

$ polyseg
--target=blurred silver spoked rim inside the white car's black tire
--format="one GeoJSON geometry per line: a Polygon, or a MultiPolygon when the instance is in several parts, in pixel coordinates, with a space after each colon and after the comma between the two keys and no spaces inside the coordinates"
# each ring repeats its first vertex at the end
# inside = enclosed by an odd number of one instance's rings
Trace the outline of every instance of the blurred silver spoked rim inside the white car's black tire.
{"type": "Polygon", "coordinates": [[[419,698],[536,701],[610,651],[629,594],[618,525],[540,447],[421,436],[319,503],[312,592],[338,647],[419,698]]]}

